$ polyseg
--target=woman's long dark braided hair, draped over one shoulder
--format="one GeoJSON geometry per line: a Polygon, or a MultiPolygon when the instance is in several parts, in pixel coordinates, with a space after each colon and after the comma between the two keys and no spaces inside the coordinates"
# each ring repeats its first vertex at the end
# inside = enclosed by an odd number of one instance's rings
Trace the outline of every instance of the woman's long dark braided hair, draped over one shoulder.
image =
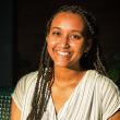
{"type": "MultiPolygon", "coordinates": [[[[84,32],[83,35],[85,40],[92,39],[92,48],[87,53],[84,53],[80,60],[80,64],[84,70],[97,70],[99,73],[106,75],[106,68],[104,56],[100,50],[98,39],[97,39],[97,28],[95,17],[81,9],[79,5],[62,5],[48,21],[47,24],[47,35],[50,31],[50,25],[53,17],[60,12],[71,12],[79,14],[84,21],[84,32]]],[[[47,43],[41,52],[40,64],[38,70],[38,77],[36,82],[36,87],[34,92],[32,110],[27,117],[27,120],[41,120],[44,112],[46,111],[49,96],[51,94],[52,85],[52,75],[53,75],[53,61],[47,51],[47,43]]]]}

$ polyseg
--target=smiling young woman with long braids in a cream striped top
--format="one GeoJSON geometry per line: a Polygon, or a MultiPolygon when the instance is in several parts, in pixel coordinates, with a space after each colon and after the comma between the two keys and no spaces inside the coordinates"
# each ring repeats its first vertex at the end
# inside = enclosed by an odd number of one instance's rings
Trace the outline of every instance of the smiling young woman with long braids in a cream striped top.
{"type": "Polygon", "coordinates": [[[47,25],[38,72],[22,77],[11,120],[120,120],[120,94],[106,75],[95,19],[63,5],[47,25]]]}

